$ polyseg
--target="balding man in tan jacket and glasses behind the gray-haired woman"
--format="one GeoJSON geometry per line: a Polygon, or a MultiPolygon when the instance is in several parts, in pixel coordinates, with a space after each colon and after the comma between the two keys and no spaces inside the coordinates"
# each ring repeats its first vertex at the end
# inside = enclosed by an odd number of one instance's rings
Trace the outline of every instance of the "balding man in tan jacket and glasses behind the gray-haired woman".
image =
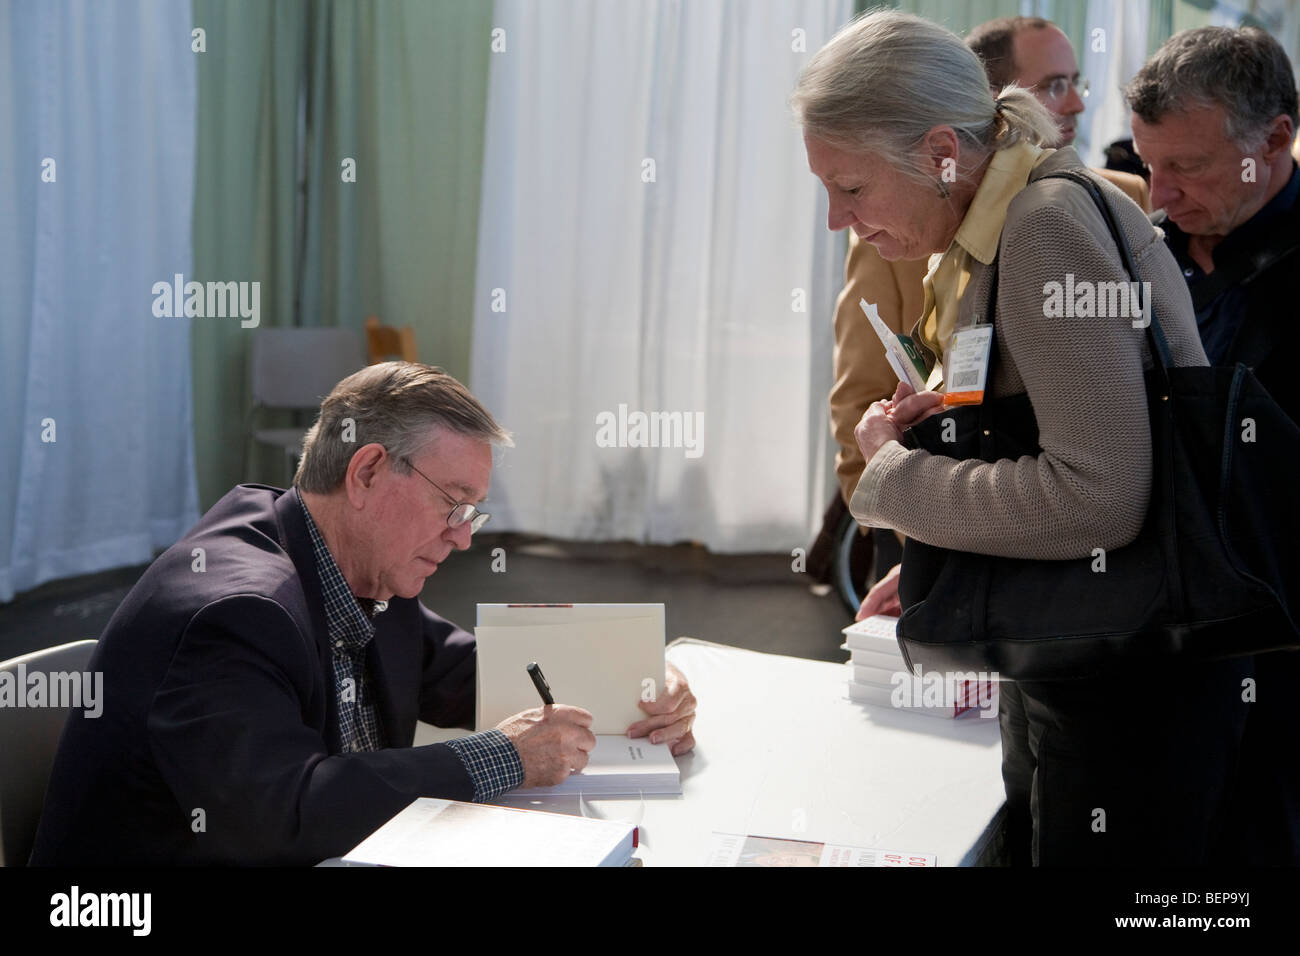
{"type": "MultiPolygon", "coordinates": [[[[1057,117],[1061,139],[1056,146],[1061,148],[1074,143],[1075,117],[1084,109],[1088,81],[1079,75],[1074,47],[1060,27],[1040,17],[1002,17],[976,26],[966,38],[966,44],[984,64],[994,95],[1011,83],[1031,90],[1057,117]]],[[[1112,169],[1093,172],[1150,212],[1147,183],[1140,176],[1112,169]]],[[[910,333],[924,306],[923,280],[930,261],[887,261],[874,246],[857,235],[849,237],[845,285],[835,307],[835,385],[831,388],[831,431],[838,445],[836,473],[844,502],[853,497],[864,468],[853,429],[871,403],[890,398],[898,384],[880,339],[858,307],[858,299],[874,303],[894,332],[910,333]]],[[[901,548],[892,540],[893,532],[876,531],[874,537],[875,567],[880,580],[863,598],[859,620],[901,610],[897,564],[901,548]]]]}

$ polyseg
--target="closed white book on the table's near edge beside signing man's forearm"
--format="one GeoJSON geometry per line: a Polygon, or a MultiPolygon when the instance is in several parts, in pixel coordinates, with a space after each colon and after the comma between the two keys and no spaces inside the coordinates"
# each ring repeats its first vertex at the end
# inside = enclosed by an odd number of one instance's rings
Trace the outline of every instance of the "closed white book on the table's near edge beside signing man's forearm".
{"type": "Polygon", "coordinates": [[[420,797],[343,857],[370,866],[629,866],[636,827],[420,797]]]}

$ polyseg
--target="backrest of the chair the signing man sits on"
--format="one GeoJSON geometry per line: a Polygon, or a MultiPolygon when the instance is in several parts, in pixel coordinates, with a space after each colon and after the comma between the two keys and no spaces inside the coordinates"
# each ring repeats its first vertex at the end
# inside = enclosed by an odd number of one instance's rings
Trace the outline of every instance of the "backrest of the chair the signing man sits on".
{"type": "MultiPolygon", "coordinates": [[[[47,675],[44,706],[0,708],[0,866],[27,865],[58,737],[68,714],[77,709],[70,704],[92,709],[84,696],[79,701],[66,700],[65,691],[72,688],[72,682],[51,680],[49,675],[74,675],[73,679],[82,687],[81,675],[94,650],[95,641],[74,641],[0,663],[0,680],[12,682],[14,693],[22,695],[25,702],[29,700],[31,675],[38,671],[47,675]],[[56,693],[56,688],[62,689],[56,693]]],[[[95,704],[103,706],[101,700],[95,704]]]]}

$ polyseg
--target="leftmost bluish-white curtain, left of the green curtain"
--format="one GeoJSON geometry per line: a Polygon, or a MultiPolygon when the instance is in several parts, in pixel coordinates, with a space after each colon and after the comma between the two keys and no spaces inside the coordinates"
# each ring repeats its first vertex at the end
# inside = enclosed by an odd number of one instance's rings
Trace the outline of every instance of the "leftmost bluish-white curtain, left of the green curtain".
{"type": "Polygon", "coordinates": [[[191,26],[187,3],[0,4],[0,601],[198,516],[187,323],[151,311],[190,278],[191,26]]]}

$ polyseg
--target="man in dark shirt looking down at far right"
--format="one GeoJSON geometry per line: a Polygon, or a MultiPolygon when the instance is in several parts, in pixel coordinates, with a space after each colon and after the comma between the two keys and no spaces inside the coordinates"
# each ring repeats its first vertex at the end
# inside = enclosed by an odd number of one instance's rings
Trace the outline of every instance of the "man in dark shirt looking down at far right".
{"type": "MultiPolygon", "coordinates": [[[[1254,369],[1292,420],[1300,392],[1295,281],[1300,172],[1291,156],[1296,85],[1261,30],[1171,36],[1127,90],[1134,146],[1150,169],[1153,221],[1183,268],[1205,352],[1254,369]]],[[[1270,502],[1294,507],[1294,502],[1270,502]]],[[[1300,865],[1300,652],[1254,658],[1225,858],[1300,865]]]]}

